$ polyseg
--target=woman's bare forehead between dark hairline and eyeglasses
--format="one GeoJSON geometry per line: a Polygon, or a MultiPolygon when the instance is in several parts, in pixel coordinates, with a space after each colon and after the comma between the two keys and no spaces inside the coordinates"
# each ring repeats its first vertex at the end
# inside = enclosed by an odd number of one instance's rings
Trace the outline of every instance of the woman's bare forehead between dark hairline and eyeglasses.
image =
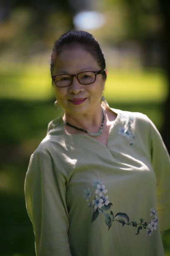
{"type": "Polygon", "coordinates": [[[100,67],[96,59],[81,47],[63,49],[55,59],[54,72],[78,73],[85,70],[97,71],[100,67]]]}

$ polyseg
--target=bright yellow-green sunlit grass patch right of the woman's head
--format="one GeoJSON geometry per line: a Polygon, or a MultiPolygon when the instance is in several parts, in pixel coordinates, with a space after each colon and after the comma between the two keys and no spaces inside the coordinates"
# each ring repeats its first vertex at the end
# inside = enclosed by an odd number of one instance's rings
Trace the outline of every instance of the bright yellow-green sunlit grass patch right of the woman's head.
{"type": "Polygon", "coordinates": [[[163,102],[168,95],[168,82],[161,70],[111,70],[104,94],[108,101],[114,102],[163,102]]]}

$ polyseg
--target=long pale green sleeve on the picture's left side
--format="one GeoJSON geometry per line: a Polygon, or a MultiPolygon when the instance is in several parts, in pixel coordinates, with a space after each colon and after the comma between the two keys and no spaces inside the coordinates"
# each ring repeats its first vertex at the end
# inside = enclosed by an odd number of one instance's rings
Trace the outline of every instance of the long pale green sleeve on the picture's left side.
{"type": "Polygon", "coordinates": [[[37,256],[71,256],[67,231],[65,179],[48,152],[32,154],[25,178],[25,200],[37,256]]]}

